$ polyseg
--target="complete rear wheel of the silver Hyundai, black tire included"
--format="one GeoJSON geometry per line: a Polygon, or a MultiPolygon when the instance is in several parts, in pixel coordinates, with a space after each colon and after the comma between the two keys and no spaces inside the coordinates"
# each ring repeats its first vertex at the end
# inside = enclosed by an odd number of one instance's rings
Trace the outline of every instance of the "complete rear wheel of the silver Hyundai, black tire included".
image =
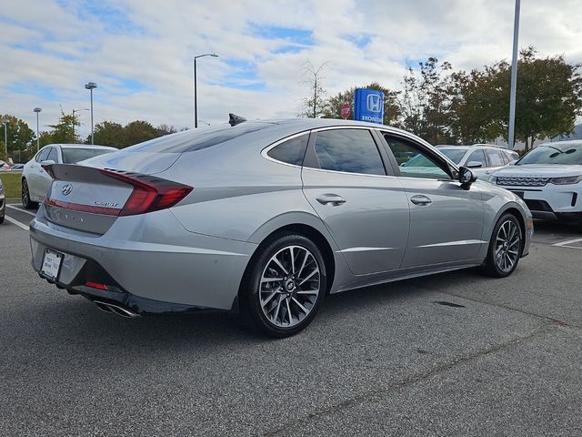
{"type": "Polygon", "coordinates": [[[282,234],[259,250],[241,284],[241,317],[270,337],[295,335],[313,320],[325,298],[321,251],[297,234],[282,234]]]}

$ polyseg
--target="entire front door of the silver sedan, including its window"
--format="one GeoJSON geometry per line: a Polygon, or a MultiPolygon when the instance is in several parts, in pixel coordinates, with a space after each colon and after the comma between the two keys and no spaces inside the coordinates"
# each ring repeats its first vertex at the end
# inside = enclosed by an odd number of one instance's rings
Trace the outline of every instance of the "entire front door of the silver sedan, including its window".
{"type": "Polygon", "coordinates": [[[485,244],[481,239],[483,200],[477,185],[462,188],[452,178],[450,164],[427,145],[387,133],[383,139],[389,154],[393,149],[400,154],[416,152],[414,158],[398,167],[410,208],[410,232],[402,268],[475,259],[485,244]]]}

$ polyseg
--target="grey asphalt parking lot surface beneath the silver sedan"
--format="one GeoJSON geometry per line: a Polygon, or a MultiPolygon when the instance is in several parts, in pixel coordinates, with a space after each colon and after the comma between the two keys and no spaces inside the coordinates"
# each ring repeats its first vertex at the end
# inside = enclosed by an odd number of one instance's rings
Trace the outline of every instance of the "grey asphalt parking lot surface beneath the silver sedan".
{"type": "Polygon", "coordinates": [[[346,292],[266,340],[222,313],[105,314],[36,276],[32,217],[6,213],[0,435],[582,435],[576,229],[536,223],[507,279],[346,292]]]}

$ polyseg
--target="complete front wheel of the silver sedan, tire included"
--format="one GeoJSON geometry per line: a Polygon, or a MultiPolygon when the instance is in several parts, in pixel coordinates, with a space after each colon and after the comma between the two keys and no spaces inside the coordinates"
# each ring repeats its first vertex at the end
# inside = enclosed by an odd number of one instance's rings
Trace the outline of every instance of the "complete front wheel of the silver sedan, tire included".
{"type": "Polygon", "coordinates": [[[484,271],[487,276],[507,278],[517,268],[523,249],[523,232],[516,216],[505,214],[491,234],[484,271]]]}

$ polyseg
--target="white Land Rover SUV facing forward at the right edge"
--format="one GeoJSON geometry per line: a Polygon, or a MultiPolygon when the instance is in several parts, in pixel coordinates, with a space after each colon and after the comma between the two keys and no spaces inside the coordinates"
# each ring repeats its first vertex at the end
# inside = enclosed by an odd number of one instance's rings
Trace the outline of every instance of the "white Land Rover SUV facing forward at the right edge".
{"type": "Polygon", "coordinates": [[[582,140],[541,144],[490,182],[523,198],[536,219],[582,224],[582,140]]]}

